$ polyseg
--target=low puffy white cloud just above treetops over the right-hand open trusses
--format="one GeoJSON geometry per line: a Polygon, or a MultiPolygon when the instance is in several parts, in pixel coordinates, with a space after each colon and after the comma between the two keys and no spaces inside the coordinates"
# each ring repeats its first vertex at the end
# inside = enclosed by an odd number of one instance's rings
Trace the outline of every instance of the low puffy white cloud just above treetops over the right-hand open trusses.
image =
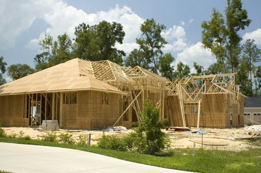
{"type": "Polygon", "coordinates": [[[202,65],[205,69],[209,65],[216,62],[215,56],[211,52],[202,47],[201,42],[197,42],[189,47],[183,49],[182,52],[177,54],[177,59],[175,61],[175,66],[181,61],[185,64],[188,64],[193,71],[193,62],[202,65]]]}

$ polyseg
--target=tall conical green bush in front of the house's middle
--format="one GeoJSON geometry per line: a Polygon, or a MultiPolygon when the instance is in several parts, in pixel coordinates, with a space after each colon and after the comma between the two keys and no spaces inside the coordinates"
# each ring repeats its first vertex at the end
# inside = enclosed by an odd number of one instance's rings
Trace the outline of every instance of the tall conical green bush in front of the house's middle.
{"type": "Polygon", "coordinates": [[[159,108],[153,106],[150,100],[146,99],[143,111],[140,115],[141,121],[133,133],[126,138],[129,150],[151,155],[160,155],[161,152],[170,146],[169,137],[161,131],[167,124],[167,119],[158,121],[159,108]]]}

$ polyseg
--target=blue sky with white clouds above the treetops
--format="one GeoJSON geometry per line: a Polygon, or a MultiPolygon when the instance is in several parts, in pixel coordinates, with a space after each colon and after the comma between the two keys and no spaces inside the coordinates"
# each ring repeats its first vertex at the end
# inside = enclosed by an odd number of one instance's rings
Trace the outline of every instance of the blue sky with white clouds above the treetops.
{"type": "MultiPolygon", "coordinates": [[[[162,33],[176,61],[192,66],[197,61],[205,68],[215,62],[211,53],[202,48],[201,23],[209,20],[212,8],[224,12],[226,0],[0,0],[0,56],[8,66],[26,63],[34,67],[33,58],[45,34],[55,38],[69,34],[81,22],[97,24],[101,20],[122,23],[126,32],[124,44],[116,45],[129,53],[137,47],[139,26],[154,18],[166,26],[162,33]]],[[[240,34],[255,39],[261,48],[261,0],[243,0],[252,23],[240,34]]],[[[6,74],[5,74],[6,77],[6,74]]]]}

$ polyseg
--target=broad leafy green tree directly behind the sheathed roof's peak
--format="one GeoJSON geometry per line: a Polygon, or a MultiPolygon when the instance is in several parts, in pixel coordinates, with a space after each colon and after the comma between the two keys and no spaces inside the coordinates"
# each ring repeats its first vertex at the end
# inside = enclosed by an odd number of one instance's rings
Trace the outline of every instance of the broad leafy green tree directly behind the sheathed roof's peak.
{"type": "Polygon", "coordinates": [[[115,47],[116,43],[123,43],[125,32],[120,23],[100,22],[98,25],[79,24],[74,32],[74,56],[91,61],[111,60],[123,63],[123,50],[115,47]]]}

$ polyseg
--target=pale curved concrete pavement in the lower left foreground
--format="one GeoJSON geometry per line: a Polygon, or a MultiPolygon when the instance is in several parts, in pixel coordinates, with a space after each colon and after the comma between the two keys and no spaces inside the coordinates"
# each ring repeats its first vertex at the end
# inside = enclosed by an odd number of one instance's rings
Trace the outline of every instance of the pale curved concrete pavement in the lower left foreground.
{"type": "Polygon", "coordinates": [[[0,170],[14,173],[190,173],[73,149],[2,142],[0,170]]]}

